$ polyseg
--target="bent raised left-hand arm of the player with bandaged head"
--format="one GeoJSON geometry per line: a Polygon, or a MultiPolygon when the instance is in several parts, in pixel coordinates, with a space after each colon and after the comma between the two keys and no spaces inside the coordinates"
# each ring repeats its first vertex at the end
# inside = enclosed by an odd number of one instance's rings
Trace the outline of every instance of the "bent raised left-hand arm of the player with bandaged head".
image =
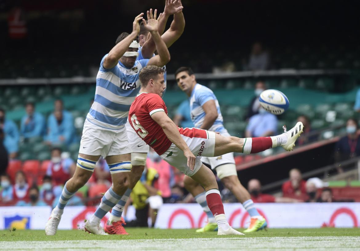
{"type": "Polygon", "coordinates": [[[119,59],[124,55],[126,50],[129,48],[132,41],[136,39],[138,33],[140,31],[139,21],[143,19],[144,13],[140,13],[135,17],[134,22],[132,23],[132,32],[125,39],[120,41],[117,45],[115,45],[108,56],[104,59],[103,66],[105,69],[111,69],[117,65],[119,59]]]}

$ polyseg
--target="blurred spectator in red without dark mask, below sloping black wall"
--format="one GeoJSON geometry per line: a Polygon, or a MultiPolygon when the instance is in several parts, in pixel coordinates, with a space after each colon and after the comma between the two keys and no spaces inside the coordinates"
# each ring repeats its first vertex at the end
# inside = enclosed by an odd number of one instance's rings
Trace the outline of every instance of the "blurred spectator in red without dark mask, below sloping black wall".
{"type": "Polygon", "coordinates": [[[299,169],[291,169],[289,171],[290,180],[284,182],[282,186],[283,197],[291,198],[305,198],[306,197],[306,187],[305,180],[301,178],[301,172],[299,169]]]}

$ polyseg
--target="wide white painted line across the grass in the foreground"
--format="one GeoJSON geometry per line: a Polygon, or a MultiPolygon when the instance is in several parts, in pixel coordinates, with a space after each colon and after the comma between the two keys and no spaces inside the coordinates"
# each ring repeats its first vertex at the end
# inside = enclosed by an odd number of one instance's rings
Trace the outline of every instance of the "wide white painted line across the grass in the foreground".
{"type": "Polygon", "coordinates": [[[0,250],[360,250],[360,237],[256,237],[111,241],[1,241],[0,250]]]}

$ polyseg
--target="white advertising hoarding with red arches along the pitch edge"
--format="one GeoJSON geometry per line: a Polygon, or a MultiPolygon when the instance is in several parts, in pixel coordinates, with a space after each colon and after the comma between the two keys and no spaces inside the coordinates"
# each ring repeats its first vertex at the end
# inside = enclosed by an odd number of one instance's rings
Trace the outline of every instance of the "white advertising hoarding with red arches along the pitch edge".
{"type": "MultiPolygon", "coordinates": [[[[360,203],[257,203],[256,207],[269,228],[360,227],[360,203]]],[[[249,215],[240,203],[224,204],[226,217],[234,228],[246,228],[249,215]]],[[[68,206],[59,229],[82,229],[96,207],[68,206]]],[[[0,229],[44,229],[50,207],[0,207],[0,229]]],[[[102,220],[102,225],[109,213],[102,220]]],[[[127,220],[135,218],[129,207],[127,220]]],[[[199,228],[206,224],[206,215],[196,203],[164,204],[158,212],[157,228],[199,228]]]]}

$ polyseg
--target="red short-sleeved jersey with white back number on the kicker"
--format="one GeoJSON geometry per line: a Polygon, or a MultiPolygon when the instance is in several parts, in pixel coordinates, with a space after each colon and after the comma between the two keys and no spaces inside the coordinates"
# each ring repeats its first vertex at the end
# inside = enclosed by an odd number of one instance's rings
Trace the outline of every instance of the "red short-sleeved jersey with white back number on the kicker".
{"type": "MultiPolygon", "coordinates": [[[[158,111],[164,111],[167,114],[164,100],[154,93],[140,93],[131,104],[128,119],[139,137],[161,155],[170,147],[171,141],[161,126],[151,118],[151,115],[158,111]]],[[[131,139],[129,142],[131,143],[131,139]]]]}

